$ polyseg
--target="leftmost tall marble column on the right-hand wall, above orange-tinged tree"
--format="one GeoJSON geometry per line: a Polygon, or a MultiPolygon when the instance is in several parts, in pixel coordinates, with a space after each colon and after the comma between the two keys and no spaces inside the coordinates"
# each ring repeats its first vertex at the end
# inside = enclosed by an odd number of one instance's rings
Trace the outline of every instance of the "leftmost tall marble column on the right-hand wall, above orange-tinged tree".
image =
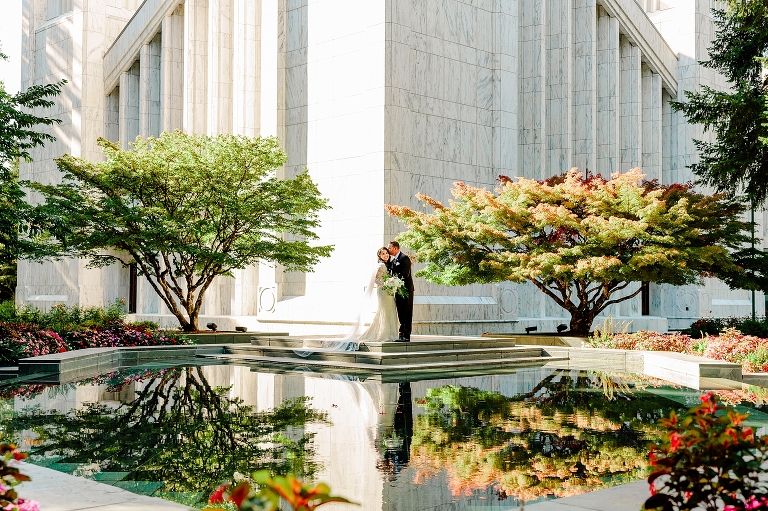
{"type": "Polygon", "coordinates": [[[549,177],[545,171],[546,152],[546,33],[547,3],[520,1],[520,100],[518,116],[520,147],[518,168],[532,179],[549,177]]]}

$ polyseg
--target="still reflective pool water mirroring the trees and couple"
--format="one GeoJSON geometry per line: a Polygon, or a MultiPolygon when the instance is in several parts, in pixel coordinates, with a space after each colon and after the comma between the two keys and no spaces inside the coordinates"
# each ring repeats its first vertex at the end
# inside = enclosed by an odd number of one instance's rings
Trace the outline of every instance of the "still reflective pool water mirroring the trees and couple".
{"type": "Polygon", "coordinates": [[[0,427],[32,463],[189,505],[270,468],[364,510],[510,509],[642,479],[658,419],[698,396],[549,367],[393,383],[139,367],[7,390],[0,427]]]}

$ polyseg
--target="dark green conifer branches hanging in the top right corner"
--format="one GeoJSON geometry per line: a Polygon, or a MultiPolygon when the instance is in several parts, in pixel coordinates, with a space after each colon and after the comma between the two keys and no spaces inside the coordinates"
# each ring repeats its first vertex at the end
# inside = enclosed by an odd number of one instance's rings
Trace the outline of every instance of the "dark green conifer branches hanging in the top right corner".
{"type": "Polygon", "coordinates": [[[717,191],[743,190],[752,204],[768,199],[768,2],[731,0],[714,10],[715,37],[701,64],[723,75],[730,90],[702,86],[672,103],[688,122],[700,123],[713,142],[695,140],[700,159],[690,166],[717,191]]]}

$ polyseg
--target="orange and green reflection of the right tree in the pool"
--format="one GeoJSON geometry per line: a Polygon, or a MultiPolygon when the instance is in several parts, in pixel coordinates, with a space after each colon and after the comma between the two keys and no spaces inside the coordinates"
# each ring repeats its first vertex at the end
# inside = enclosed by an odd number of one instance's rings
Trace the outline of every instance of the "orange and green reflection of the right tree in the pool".
{"type": "Polygon", "coordinates": [[[430,389],[417,402],[426,409],[414,424],[417,478],[445,470],[454,494],[496,485],[501,497],[522,500],[643,478],[647,443],[662,434],[656,421],[674,405],[640,398],[626,382],[606,378],[558,371],[514,398],[430,389]]]}

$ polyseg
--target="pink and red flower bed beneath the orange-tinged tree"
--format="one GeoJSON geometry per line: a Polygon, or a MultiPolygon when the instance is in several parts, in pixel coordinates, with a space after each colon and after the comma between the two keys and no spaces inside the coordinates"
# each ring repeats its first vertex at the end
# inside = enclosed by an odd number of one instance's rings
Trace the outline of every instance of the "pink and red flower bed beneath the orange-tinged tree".
{"type": "Polygon", "coordinates": [[[768,339],[744,335],[734,328],[701,339],[677,332],[660,334],[646,330],[631,334],[598,334],[590,338],[585,347],[674,351],[741,364],[745,372],[768,372],[768,339]]]}

